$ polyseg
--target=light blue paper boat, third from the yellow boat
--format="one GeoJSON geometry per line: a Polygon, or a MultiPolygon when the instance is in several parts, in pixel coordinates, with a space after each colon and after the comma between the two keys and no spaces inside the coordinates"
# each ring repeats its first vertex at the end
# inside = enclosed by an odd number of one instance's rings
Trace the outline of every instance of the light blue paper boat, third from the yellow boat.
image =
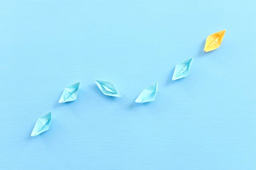
{"type": "Polygon", "coordinates": [[[152,102],[157,96],[158,82],[145,88],[135,100],[136,103],[152,102]]]}

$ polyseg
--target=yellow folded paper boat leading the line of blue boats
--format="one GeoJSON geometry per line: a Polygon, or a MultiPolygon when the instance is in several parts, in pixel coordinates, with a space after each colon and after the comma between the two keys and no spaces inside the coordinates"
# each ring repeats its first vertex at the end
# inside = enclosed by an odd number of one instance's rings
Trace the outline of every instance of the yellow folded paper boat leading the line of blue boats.
{"type": "Polygon", "coordinates": [[[205,42],[204,51],[208,52],[219,48],[225,35],[225,32],[226,30],[224,29],[222,31],[209,35],[205,42]]]}

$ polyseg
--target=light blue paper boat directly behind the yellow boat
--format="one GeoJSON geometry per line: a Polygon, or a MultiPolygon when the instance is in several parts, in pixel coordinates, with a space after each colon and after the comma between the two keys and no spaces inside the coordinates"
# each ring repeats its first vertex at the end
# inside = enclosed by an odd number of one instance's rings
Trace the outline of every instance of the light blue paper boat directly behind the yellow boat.
{"type": "Polygon", "coordinates": [[[187,77],[189,75],[189,71],[190,71],[190,67],[191,67],[193,59],[194,59],[194,57],[177,64],[175,67],[173,76],[172,76],[172,80],[177,80],[177,79],[181,79],[183,77],[187,77]]]}

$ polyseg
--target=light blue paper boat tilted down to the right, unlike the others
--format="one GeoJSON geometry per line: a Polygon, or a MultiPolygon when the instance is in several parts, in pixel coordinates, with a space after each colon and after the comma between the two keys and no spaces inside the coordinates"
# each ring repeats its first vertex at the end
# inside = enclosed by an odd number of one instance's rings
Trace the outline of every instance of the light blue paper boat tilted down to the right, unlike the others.
{"type": "Polygon", "coordinates": [[[96,85],[99,87],[100,91],[107,96],[121,97],[117,91],[115,85],[112,82],[106,82],[102,80],[94,79],[96,85]]]}

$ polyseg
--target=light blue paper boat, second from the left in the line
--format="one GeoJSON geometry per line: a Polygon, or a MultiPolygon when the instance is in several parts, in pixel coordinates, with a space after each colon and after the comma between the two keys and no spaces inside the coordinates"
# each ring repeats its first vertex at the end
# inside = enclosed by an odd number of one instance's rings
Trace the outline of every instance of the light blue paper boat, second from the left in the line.
{"type": "Polygon", "coordinates": [[[59,103],[71,102],[76,100],[80,82],[66,87],[61,95],[59,103]]]}

